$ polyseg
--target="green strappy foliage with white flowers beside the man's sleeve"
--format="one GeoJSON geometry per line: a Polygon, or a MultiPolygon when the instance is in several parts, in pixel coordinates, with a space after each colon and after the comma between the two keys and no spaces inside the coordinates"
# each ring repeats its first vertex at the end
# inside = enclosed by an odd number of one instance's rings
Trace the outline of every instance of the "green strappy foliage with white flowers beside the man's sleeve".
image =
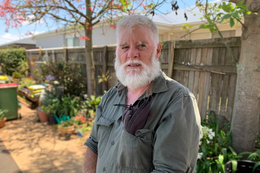
{"type": "Polygon", "coordinates": [[[211,111],[208,119],[201,121],[202,131],[200,135],[200,147],[196,172],[198,173],[224,173],[224,165],[229,160],[242,158],[241,154],[231,147],[231,123],[228,122],[223,128],[219,128],[220,118],[215,121],[215,114],[211,111]]]}

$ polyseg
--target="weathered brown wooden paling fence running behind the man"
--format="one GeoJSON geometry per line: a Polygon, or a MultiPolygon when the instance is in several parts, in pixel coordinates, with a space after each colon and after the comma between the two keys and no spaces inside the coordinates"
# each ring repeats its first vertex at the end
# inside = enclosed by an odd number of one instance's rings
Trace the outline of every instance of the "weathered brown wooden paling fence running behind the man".
{"type": "MultiPolygon", "coordinates": [[[[239,59],[240,37],[226,39],[232,49],[234,57],[239,59]]],[[[103,72],[109,70],[112,79],[108,88],[117,83],[114,70],[116,46],[94,47],[94,61],[96,79],[103,72]]],[[[34,61],[38,68],[43,60],[55,62],[66,60],[81,64],[82,76],[86,76],[86,62],[84,48],[55,48],[27,50],[27,59],[34,61]],[[41,54],[40,54],[41,53],[41,54]],[[39,62],[40,61],[40,62],[39,62]]],[[[167,76],[188,87],[195,95],[201,118],[207,113],[215,112],[218,116],[231,121],[236,88],[236,63],[232,60],[228,49],[220,39],[195,41],[168,41],[162,43],[160,55],[161,69],[167,76]]],[[[39,69],[40,70],[40,69],[39,69]]],[[[31,71],[31,76],[36,77],[31,71]]],[[[97,80],[96,80],[97,81],[97,80]]],[[[104,84],[96,85],[97,94],[102,95],[104,84]]],[[[225,121],[222,121],[222,124],[225,121]]]]}

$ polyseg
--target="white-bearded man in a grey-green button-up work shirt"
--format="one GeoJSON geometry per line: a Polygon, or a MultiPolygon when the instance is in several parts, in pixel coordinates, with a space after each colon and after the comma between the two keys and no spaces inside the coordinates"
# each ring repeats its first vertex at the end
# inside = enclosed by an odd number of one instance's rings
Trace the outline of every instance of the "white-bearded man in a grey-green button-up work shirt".
{"type": "Polygon", "coordinates": [[[156,25],[141,15],[125,16],[117,23],[116,36],[120,82],[97,108],[84,143],[83,173],[195,172],[201,130],[197,103],[188,88],[160,70],[156,25]],[[131,111],[138,112],[140,100],[149,107],[136,115],[131,111]]]}

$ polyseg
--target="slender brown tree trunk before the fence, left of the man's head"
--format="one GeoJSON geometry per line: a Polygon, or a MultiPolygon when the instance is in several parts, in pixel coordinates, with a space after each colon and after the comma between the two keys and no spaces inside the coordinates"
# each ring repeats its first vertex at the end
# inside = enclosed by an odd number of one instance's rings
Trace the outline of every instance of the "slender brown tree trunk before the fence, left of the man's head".
{"type": "Polygon", "coordinates": [[[89,40],[85,40],[85,54],[87,70],[87,97],[90,97],[90,95],[96,95],[95,65],[92,48],[92,30],[85,28],[85,36],[89,38],[89,40]]]}

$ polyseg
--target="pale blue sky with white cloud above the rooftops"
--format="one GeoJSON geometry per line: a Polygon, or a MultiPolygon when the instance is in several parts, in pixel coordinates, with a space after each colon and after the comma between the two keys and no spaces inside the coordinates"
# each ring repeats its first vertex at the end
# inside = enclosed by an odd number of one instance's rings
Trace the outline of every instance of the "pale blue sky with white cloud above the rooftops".
{"type": "MultiPolygon", "coordinates": [[[[208,2],[212,2],[212,1],[213,0],[208,0],[208,2]]],[[[0,0],[0,2],[2,2],[2,0],[0,0]]],[[[177,0],[179,9],[187,8],[189,6],[195,5],[195,2],[196,0],[177,0]]],[[[206,2],[206,0],[200,0],[200,2],[206,2]]],[[[165,13],[167,9],[169,10],[169,5],[163,6],[162,8],[160,8],[160,11],[165,13]]],[[[53,23],[49,23],[49,27],[47,27],[46,24],[44,23],[36,23],[36,24],[34,23],[29,25],[28,23],[25,22],[21,27],[9,28],[8,30],[6,30],[5,22],[1,18],[0,18],[0,26],[1,26],[0,45],[30,37],[31,35],[30,36],[26,35],[26,33],[28,32],[33,32],[36,35],[39,33],[48,32],[59,28],[59,26],[53,23]]]]}

